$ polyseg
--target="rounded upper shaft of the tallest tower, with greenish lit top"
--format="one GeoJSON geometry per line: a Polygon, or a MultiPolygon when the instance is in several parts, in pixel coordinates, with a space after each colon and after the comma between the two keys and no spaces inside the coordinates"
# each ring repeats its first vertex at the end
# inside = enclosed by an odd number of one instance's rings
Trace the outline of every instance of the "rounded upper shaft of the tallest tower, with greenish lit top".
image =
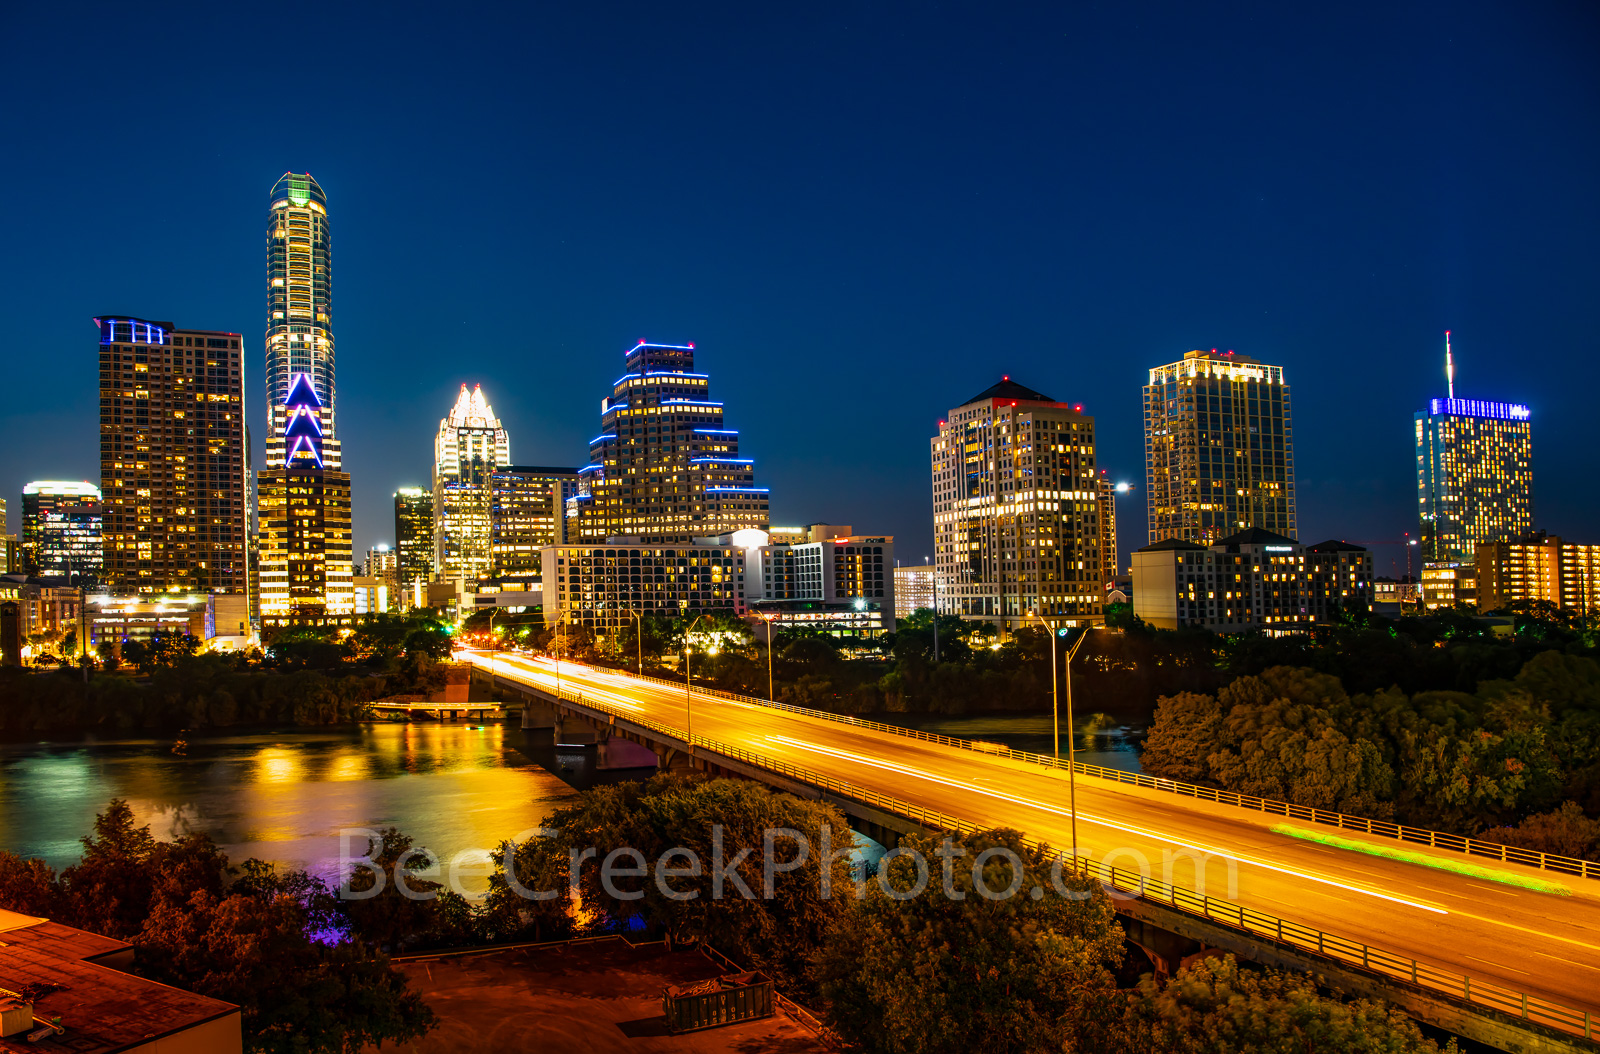
{"type": "Polygon", "coordinates": [[[338,470],[338,392],[333,379],[333,242],[328,195],[310,173],[283,173],[267,195],[267,467],[283,464],[278,413],[294,377],[322,400],[322,457],[338,470]]]}

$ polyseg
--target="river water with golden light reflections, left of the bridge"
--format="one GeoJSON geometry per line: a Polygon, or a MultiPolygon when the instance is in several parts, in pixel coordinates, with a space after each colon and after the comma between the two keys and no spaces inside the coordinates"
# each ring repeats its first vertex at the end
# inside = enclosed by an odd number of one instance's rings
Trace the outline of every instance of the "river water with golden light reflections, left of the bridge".
{"type": "MultiPolygon", "coordinates": [[[[66,867],[115,796],[158,838],[206,832],[235,862],[333,880],[341,828],[395,825],[448,862],[538,827],[576,795],[498,725],[190,736],[186,755],[170,741],[0,745],[0,848],[66,867]]],[[[464,886],[482,891],[482,875],[464,886]]]]}

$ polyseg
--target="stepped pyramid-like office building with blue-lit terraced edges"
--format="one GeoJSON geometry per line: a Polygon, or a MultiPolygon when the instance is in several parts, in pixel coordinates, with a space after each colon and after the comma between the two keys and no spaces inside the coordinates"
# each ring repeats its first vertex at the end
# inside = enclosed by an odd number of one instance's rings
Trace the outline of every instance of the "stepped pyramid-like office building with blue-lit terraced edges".
{"type": "Polygon", "coordinates": [[[723,427],[710,379],[694,373],[694,345],[640,341],[600,401],[600,435],[589,441],[566,536],[645,545],[768,526],[766,488],[739,457],[739,432],[723,427]]]}

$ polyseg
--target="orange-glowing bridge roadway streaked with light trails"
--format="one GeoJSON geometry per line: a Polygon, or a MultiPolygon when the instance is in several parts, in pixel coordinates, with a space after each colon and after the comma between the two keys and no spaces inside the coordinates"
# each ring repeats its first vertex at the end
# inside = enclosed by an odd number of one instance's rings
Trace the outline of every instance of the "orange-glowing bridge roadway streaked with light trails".
{"type": "MultiPolygon", "coordinates": [[[[462,654],[488,667],[486,654],[462,654]]],[[[555,664],[501,653],[501,677],[544,689],[555,664]]],[[[1014,827],[1066,849],[1066,773],[981,752],[658,685],[563,662],[562,688],[642,720],[752,750],[974,824],[1014,827]]],[[[1392,860],[1277,833],[1283,817],[1077,777],[1080,852],[1120,868],[1149,860],[1150,875],[1219,899],[1360,940],[1440,969],[1600,1014],[1600,883],[1515,864],[1405,844],[1446,867],[1474,864],[1560,896],[1453,870],[1392,860]],[[1197,864],[1197,857],[1203,862],[1197,864]],[[1168,864],[1171,862],[1171,864],[1168,864]],[[1166,872],[1166,867],[1171,872],[1166,872]],[[1232,872],[1232,875],[1230,875],[1232,872]],[[1230,894],[1229,883],[1234,883],[1230,894]]],[[[1400,843],[1288,820],[1382,849],[1400,843]]]]}

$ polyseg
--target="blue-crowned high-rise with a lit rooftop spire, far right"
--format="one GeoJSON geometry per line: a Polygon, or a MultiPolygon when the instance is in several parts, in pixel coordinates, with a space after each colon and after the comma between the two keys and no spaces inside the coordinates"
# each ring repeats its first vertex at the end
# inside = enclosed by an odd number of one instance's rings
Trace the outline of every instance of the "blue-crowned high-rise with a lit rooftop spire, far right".
{"type": "Polygon", "coordinates": [[[1424,560],[1474,561],[1477,547],[1533,531],[1531,413],[1456,398],[1445,334],[1445,398],[1416,414],[1416,501],[1424,560]]]}

